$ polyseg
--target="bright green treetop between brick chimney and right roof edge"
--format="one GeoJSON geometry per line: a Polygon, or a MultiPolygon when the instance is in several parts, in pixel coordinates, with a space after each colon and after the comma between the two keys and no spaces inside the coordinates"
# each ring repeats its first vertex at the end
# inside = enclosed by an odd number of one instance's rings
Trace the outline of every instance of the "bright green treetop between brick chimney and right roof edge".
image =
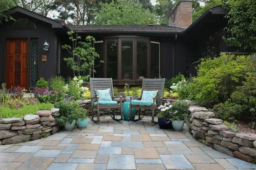
{"type": "Polygon", "coordinates": [[[192,14],[193,22],[199,18],[206,10],[219,5],[222,5],[221,0],[207,0],[204,6],[199,5],[192,14]]]}

